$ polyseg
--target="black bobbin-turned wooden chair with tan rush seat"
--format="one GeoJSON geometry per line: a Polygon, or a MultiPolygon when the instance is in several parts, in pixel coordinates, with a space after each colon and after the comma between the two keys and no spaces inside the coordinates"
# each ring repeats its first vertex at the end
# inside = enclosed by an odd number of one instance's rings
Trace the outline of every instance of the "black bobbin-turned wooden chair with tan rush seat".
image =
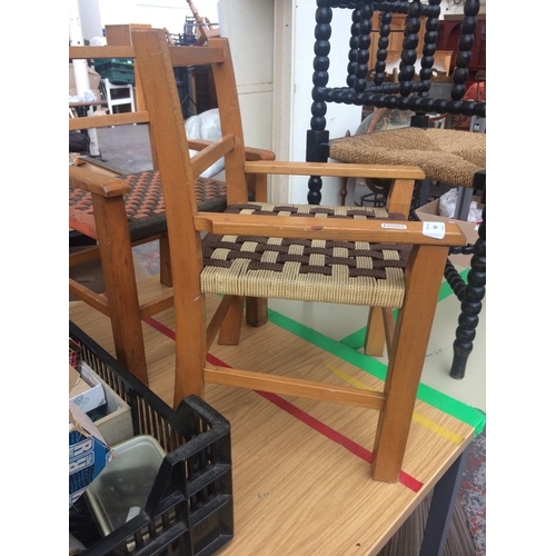
{"type": "MultiPolygon", "coordinates": [[[[466,0],[460,23],[455,69],[449,99],[435,99],[428,95],[438,40],[440,1],[427,4],[415,1],[358,0],[338,2],[318,0],[315,28],[315,72],[312,76],[311,129],[307,131],[307,160],[341,162],[411,165],[421,168],[427,179],[459,187],[460,199],[470,201],[470,193],[480,192],[486,202],[486,137],[484,133],[431,129],[433,115],[448,118],[463,115],[485,118],[486,101],[463,100],[469,78],[473,47],[477,30],[479,0],[466,0]],[[351,10],[351,38],[346,87],[327,87],[332,31],[332,10],[351,10]],[[386,59],[391,33],[393,14],[405,14],[405,31],[397,81],[386,81],[386,59]],[[379,39],[376,63],[369,71],[369,48],[373,19],[379,18],[379,39]],[[424,32],[423,32],[424,29],[424,32]],[[420,34],[420,39],[419,39],[420,34]],[[420,69],[416,61],[420,56],[420,69]],[[409,128],[385,130],[373,135],[344,137],[330,140],[326,129],[327,105],[330,102],[410,110],[414,112],[409,128]]],[[[320,203],[322,186],[319,176],[309,179],[308,202],[320,203]]],[[[423,197],[421,197],[423,199],[423,197]]],[[[465,210],[459,214],[465,215],[465,210]]],[[[418,219],[413,215],[414,219],[418,219]]],[[[453,378],[464,378],[468,357],[473,350],[481,300],[486,285],[486,209],[475,245],[451,252],[473,255],[470,271],[464,280],[449,260],[445,278],[461,302],[461,314],[456,329],[453,378]]]]}

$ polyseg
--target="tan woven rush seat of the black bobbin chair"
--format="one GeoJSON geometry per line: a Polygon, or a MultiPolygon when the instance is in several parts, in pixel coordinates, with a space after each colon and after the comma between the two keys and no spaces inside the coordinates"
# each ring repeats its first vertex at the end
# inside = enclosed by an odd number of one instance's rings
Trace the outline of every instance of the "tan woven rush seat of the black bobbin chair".
{"type": "Polygon", "coordinates": [[[401,128],[330,141],[341,162],[418,166],[428,179],[474,187],[486,168],[486,135],[454,129],[401,128]]]}

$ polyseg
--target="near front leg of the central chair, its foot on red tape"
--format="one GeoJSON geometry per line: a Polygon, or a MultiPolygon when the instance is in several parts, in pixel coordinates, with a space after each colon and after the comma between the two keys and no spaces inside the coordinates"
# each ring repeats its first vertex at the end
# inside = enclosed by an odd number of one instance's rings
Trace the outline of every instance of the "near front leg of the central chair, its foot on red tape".
{"type": "Polygon", "coordinates": [[[398,480],[447,256],[448,249],[420,246],[409,258],[406,298],[396,320],[385,407],[375,437],[371,473],[376,480],[398,480]]]}

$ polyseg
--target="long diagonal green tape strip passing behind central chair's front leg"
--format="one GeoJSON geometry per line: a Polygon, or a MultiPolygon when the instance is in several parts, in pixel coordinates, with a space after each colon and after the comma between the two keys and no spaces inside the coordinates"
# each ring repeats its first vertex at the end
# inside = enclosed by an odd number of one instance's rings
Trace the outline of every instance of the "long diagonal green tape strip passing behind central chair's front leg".
{"type": "MultiPolygon", "coordinates": [[[[357,368],[369,373],[380,380],[385,380],[386,365],[383,363],[360,354],[340,341],[328,338],[324,334],[301,325],[300,322],[297,322],[296,320],[290,319],[289,317],[286,317],[272,309],[268,309],[268,319],[280,328],[295,334],[320,349],[332,354],[339,359],[355,365],[357,368]]],[[[435,390],[427,385],[419,385],[417,398],[448,415],[451,415],[456,419],[467,423],[469,426],[475,428],[476,435],[480,434],[485,428],[486,415],[484,411],[470,407],[463,401],[458,401],[457,399],[435,390]]]]}

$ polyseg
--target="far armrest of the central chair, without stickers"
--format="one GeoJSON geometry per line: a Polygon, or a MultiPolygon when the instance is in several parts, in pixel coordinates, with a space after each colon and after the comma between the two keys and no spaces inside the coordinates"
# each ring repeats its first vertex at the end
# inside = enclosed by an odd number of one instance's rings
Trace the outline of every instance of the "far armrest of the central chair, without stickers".
{"type": "Polygon", "coordinates": [[[342,162],[247,161],[246,173],[331,176],[340,178],[425,179],[417,166],[358,165],[342,162]]]}

